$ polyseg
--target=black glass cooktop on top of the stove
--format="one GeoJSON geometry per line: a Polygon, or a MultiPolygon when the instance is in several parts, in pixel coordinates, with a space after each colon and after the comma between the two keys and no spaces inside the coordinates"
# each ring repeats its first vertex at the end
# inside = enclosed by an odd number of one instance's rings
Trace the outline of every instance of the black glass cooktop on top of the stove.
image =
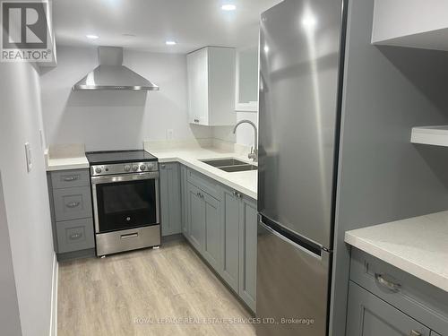
{"type": "Polygon", "coordinates": [[[147,151],[87,151],[86,157],[90,165],[107,165],[125,162],[157,161],[157,158],[147,151]]]}

